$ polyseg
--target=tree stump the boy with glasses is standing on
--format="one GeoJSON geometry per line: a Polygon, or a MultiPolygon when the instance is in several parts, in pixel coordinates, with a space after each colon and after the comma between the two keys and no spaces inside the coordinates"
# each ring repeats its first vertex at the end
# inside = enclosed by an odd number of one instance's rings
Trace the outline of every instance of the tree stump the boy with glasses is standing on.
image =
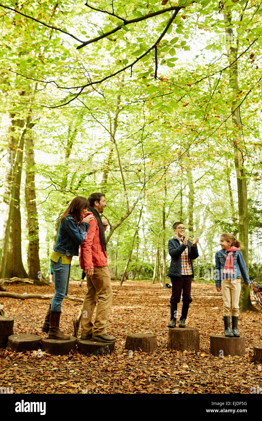
{"type": "Polygon", "coordinates": [[[176,351],[199,350],[199,331],[196,328],[170,328],[168,330],[167,349],[176,351]]]}

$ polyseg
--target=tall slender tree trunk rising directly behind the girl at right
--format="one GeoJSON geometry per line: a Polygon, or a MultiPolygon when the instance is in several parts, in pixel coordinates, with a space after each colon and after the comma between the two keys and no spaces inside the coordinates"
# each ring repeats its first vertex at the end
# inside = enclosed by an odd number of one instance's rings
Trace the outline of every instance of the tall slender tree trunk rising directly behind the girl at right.
{"type": "MultiPolygon", "coordinates": [[[[242,15],[243,16],[243,15],[242,15]]],[[[226,35],[229,39],[234,40],[234,33],[232,28],[232,14],[228,6],[225,6],[224,19],[229,23],[225,27],[226,35]]],[[[236,168],[236,177],[237,177],[237,186],[238,186],[238,219],[239,219],[239,240],[241,242],[241,251],[243,253],[244,260],[246,262],[246,267],[249,269],[249,212],[248,212],[248,200],[247,200],[247,188],[246,188],[246,170],[244,167],[243,161],[243,140],[242,131],[241,131],[241,116],[240,109],[237,107],[238,100],[237,95],[239,93],[238,86],[238,40],[236,41],[236,47],[230,45],[228,49],[228,59],[230,62],[235,60],[235,63],[230,67],[229,70],[229,79],[230,79],[230,88],[233,91],[233,101],[232,109],[234,110],[232,115],[233,123],[233,133],[232,137],[234,139],[234,161],[236,168]]],[[[240,312],[246,310],[254,310],[254,306],[251,304],[250,300],[250,288],[246,288],[241,281],[241,294],[239,307],[240,312]]]]}

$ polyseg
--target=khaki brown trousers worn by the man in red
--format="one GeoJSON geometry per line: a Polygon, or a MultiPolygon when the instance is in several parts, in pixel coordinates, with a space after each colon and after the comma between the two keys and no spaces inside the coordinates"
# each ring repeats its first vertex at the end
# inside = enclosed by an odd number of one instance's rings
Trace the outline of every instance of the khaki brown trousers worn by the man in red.
{"type": "Polygon", "coordinates": [[[106,322],[112,296],[108,267],[94,267],[93,276],[87,278],[87,292],[85,294],[81,318],[81,335],[90,335],[92,331],[93,336],[106,333],[106,322]],[[92,316],[96,304],[95,322],[93,324],[92,316]]]}

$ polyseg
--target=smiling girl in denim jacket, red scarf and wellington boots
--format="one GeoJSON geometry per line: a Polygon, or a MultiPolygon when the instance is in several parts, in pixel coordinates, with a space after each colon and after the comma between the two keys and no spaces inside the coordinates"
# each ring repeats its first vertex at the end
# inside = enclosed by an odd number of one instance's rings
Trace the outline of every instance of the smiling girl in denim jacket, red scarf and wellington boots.
{"type": "Polygon", "coordinates": [[[215,282],[217,291],[223,297],[223,320],[225,336],[239,338],[237,331],[239,314],[239,297],[241,291],[241,275],[248,287],[251,282],[247,273],[243,254],[239,248],[240,242],[232,234],[224,233],[220,237],[221,250],[215,255],[215,282]],[[222,284],[222,287],[221,287],[222,284]],[[230,329],[230,313],[232,316],[232,331],[230,329]]]}

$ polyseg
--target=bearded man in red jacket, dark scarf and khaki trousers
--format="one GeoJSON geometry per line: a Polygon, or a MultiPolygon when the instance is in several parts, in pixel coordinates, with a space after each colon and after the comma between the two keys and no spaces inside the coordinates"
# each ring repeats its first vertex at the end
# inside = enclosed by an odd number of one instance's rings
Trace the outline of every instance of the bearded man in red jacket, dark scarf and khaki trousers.
{"type": "Polygon", "coordinates": [[[112,301],[112,288],[106,256],[107,221],[101,220],[100,213],[106,207],[105,195],[93,193],[88,197],[89,213],[95,218],[90,221],[88,235],[80,247],[79,263],[87,275],[87,293],[85,294],[82,318],[81,339],[93,339],[100,342],[114,342],[116,338],[106,331],[109,306],[112,301]],[[95,322],[92,316],[97,304],[95,322]]]}

